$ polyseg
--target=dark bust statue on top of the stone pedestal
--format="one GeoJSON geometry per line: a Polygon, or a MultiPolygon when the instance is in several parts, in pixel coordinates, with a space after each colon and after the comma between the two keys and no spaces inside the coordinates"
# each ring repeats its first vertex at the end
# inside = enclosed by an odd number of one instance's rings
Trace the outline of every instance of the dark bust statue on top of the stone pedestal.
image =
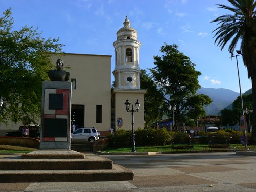
{"type": "Polygon", "coordinates": [[[51,81],[68,81],[69,72],[63,70],[64,63],[61,59],[56,62],[57,69],[50,70],[48,72],[48,77],[51,81]]]}

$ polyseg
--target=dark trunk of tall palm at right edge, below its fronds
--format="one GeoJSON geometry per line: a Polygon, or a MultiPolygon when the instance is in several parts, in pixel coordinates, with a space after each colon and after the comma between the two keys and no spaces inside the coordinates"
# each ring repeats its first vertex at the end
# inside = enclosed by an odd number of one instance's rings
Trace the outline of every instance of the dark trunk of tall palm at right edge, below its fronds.
{"type": "Polygon", "coordinates": [[[252,101],[253,101],[253,114],[252,114],[252,139],[253,142],[256,143],[256,71],[252,72],[251,76],[252,83],[252,101]]]}

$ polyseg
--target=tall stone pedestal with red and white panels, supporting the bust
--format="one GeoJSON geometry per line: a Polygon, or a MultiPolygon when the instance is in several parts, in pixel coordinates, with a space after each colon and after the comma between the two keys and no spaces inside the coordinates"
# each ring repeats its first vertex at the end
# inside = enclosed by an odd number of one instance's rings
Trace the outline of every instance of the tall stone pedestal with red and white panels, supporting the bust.
{"type": "Polygon", "coordinates": [[[40,150],[70,150],[71,82],[44,81],[40,150]]]}

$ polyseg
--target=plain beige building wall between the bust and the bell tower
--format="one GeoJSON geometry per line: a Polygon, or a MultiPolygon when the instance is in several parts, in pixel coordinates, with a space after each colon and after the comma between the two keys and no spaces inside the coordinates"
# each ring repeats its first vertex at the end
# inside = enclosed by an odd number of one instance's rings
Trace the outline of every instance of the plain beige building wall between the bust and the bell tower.
{"type": "MultiPolygon", "coordinates": [[[[53,56],[53,63],[57,57],[53,56]]],[[[84,126],[98,131],[110,128],[111,56],[65,54],[64,67],[70,66],[70,80],[76,79],[72,90],[72,104],[84,105],[84,126]],[[96,105],[102,105],[102,123],[96,123],[96,105]]]]}

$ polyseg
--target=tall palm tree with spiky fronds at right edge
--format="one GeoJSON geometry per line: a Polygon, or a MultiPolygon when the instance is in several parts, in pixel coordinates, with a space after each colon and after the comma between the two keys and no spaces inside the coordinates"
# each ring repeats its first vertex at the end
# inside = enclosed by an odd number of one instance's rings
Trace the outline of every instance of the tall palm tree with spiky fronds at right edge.
{"type": "MultiPolygon", "coordinates": [[[[248,71],[248,78],[252,82],[253,112],[256,112],[256,0],[228,0],[233,7],[217,4],[232,12],[217,17],[212,22],[219,25],[215,32],[215,43],[225,47],[230,41],[228,51],[233,55],[238,41],[241,40],[240,50],[244,65],[248,71]]],[[[211,23],[212,23],[211,22],[211,23]]],[[[255,116],[254,116],[255,117],[255,116]]],[[[253,118],[254,129],[252,131],[253,140],[256,142],[256,118],[253,118]]]]}

